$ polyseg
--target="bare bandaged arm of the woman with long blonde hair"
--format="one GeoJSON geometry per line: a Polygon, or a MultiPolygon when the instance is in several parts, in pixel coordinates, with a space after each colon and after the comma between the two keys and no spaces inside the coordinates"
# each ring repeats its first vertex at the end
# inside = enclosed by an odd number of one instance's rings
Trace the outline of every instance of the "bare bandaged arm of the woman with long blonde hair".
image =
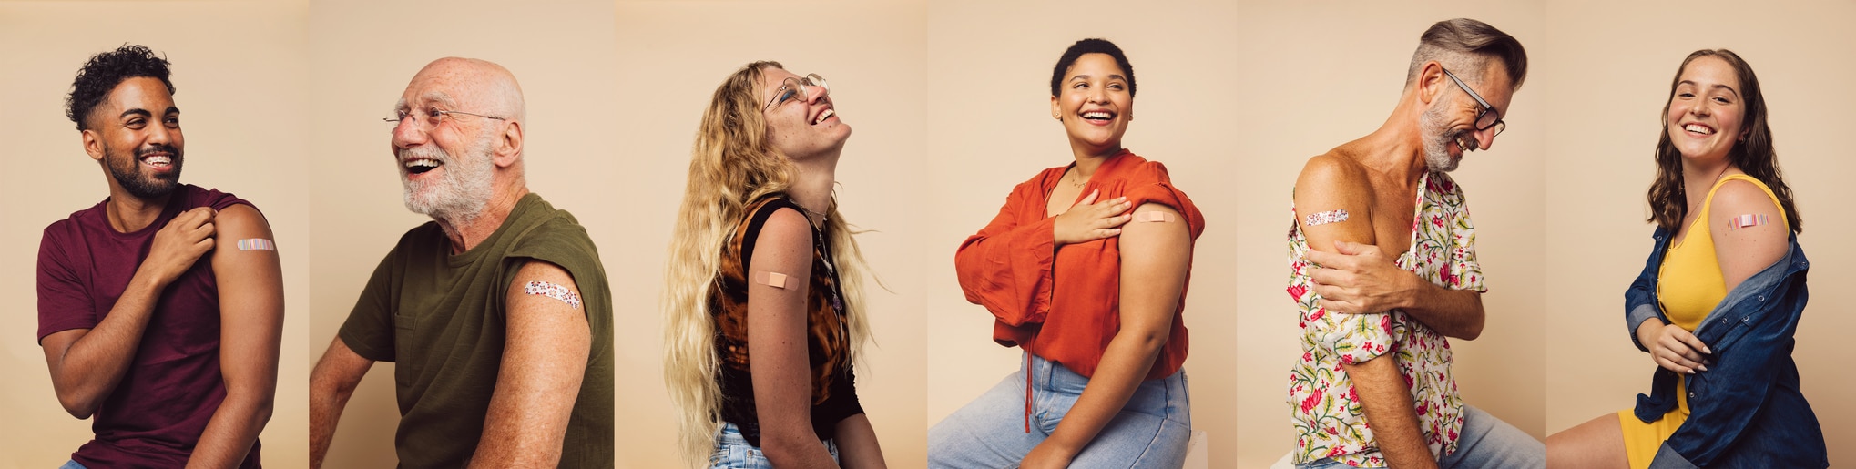
{"type": "Polygon", "coordinates": [[[767,217],[748,263],[748,371],[761,423],[761,449],[776,467],[831,467],[811,425],[811,354],[806,349],[806,298],[811,289],[811,221],[796,209],[767,217]],[[787,287],[754,282],[780,273],[787,287]]]}

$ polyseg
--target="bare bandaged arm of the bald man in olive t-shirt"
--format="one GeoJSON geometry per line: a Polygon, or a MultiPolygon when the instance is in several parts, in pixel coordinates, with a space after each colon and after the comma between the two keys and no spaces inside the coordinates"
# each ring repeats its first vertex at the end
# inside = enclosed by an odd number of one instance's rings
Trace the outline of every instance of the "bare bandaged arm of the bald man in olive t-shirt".
{"type": "Polygon", "coordinates": [[[507,337],[497,367],[496,393],[483,421],[483,437],[471,467],[555,467],[566,441],[568,419],[586,378],[592,328],[585,306],[529,295],[529,282],[564,285],[581,293],[561,265],[529,260],[505,293],[507,337]]]}

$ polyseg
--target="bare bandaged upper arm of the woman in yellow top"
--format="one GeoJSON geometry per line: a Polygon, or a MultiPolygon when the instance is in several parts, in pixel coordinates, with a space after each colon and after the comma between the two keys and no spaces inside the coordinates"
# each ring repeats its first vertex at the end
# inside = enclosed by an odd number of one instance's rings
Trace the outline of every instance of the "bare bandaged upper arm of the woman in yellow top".
{"type": "Polygon", "coordinates": [[[1721,263],[1721,278],[1728,291],[1734,291],[1752,274],[1772,265],[1791,248],[1785,226],[1785,213],[1778,202],[1745,180],[1730,180],[1715,191],[1708,209],[1708,232],[1715,241],[1715,261],[1721,263]],[[1739,215],[1765,215],[1765,224],[1746,228],[1728,228],[1728,221],[1739,215]]]}

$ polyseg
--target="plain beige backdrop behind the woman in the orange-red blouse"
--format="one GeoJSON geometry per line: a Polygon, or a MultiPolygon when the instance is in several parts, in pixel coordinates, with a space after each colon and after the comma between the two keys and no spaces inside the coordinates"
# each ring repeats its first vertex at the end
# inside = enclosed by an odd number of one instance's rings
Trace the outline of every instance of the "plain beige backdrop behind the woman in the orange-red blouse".
{"type": "MultiPolygon", "coordinates": [[[[1114,41],[1128,56],[1140,91],[1123,137],[1136,154],[1166,163],[1199,206],[1206,230],[1193,247],[1186,328],[1192,423],[1206,432],[1212,467],[1231,467],[1236,437],[1234,298],[1231,263],[1238,243],[1232,176],[1247,156],[1229,143],[1242,74],[1221,59],[1238,41],[1231,2],[935,2],[928,11],[934,85],[924,133],[934,154],[926,198],[922,273],[928,285],[928,425],[960,410],[1019,369],[1019,349],[993,343],[993,315],[969,304],[954,250],[999,213],[1012,187],[1075,161],[1063,126],[1050,119],[1050,67],[1084,37],[1114,41]]],[[[1275,374],[1275,373],[1271,373],[1275,374]]],[[[1284,425],[1286,426],[1286,425],[1284,425]]]]}

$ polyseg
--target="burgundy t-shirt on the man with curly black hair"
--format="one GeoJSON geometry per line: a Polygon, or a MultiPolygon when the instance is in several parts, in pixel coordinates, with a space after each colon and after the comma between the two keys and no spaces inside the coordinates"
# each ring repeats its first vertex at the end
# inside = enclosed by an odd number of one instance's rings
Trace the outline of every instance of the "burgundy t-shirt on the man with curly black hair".
{"type": "MultiPolygon", "coordinates": [[[[72,328],[95,328],[128,289],[148,258],[154,234],[180,211],[247,204],[197,185],[174,187],[161,217],[119,234],[110,226],[110,200],[52,222],[39,241],[39,341],[72,328]]],[[[161,291],[135,358],[115,391],[93,415],[97,439],[72,460],[85,467],[184,467],[206,423],[225,400],[219,376],[219,284],[212,252],[161,291]]],[[[258,467],[258,443],[241,467],[258,467]]]]}

